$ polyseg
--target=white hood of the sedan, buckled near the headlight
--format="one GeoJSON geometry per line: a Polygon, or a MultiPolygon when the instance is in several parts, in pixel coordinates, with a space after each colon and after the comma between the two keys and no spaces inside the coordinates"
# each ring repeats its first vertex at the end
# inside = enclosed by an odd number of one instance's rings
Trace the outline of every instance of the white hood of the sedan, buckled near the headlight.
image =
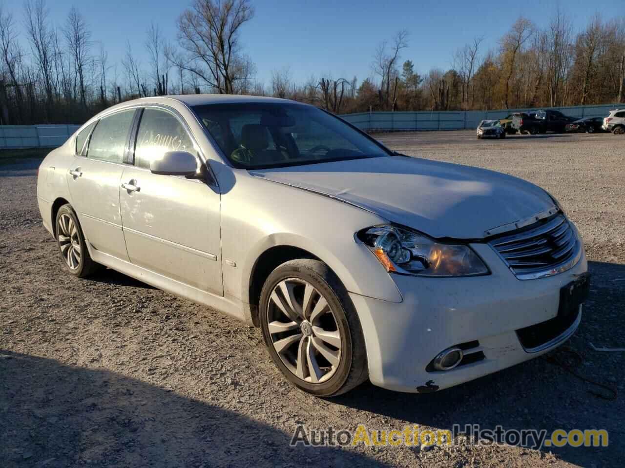
{"type": "Polygon", "coordinates": [[[435,238],[484,238],[493,228],[554,206],[547,192],[519,178],[421,158],[364,158],[250,173],[357,205],[435,238]]]}

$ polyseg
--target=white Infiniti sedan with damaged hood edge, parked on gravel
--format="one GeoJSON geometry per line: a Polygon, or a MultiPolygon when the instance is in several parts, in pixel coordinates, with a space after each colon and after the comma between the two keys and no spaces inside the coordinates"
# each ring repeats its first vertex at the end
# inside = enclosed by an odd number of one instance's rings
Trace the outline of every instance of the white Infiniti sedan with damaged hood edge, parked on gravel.
{"type": "Polygon", "coordinates": [[[541,188],[282,99],[115,105],[47,155],[37,199],[69,274],[108,266],[254,324],[317,396],[432,392],[539,356],[589,287],[541,188]]]}

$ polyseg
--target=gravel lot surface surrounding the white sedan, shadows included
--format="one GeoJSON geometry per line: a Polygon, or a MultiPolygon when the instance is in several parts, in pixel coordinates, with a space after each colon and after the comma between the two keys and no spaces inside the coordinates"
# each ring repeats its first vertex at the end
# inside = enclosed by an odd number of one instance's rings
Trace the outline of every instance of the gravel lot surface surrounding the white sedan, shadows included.
{"type": "Polygon", "coordinates": [[[625,459],[625,138],[472,132],[378,135],[392,149],[511,173],[576,222],[591,299],[565,348],[456,388],[400,394],[364,384],[317,399],[271,364],[257,329],[111,270],[66,275],[36,207],[37,162],[0,167],[0,467],[621,466],[625,459]],[[571,359],[571,350],[581,362],[571,359]],[[551,359],[551,360],[550,360],[551,359]],[[553,363],[621,394],[607,393],[553,363]],[[602,448],[296,447],[310,428],[605,428],[602,448]]]}

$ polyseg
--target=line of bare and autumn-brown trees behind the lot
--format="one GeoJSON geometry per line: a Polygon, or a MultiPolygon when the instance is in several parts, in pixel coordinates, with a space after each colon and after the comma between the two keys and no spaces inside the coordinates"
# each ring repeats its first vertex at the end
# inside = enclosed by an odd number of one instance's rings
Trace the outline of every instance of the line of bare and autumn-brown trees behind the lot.
{"type": "Polygon", "coordinates": [[[289,67],[256,79],[241,32],[250,0],[192,0],[176,20],[176,38],[152,22],[142,47],[127,42],[109,57],[83,13],[72,7],[53,24],[46,0],[9,10],[0,0],[0,124],[81,123],[109,105],[150,95],[272,95],[336,114],[369,110],[470,110],[555,107],[625,101],[625,17],[591,17],[582,31],[560,9],[546,27],[519,17],[497,46],[474,37],[450,54],[449,69],[416,71],[402,57],[410,31],[371,54],[365,79],[291,78],[289,67]]]}

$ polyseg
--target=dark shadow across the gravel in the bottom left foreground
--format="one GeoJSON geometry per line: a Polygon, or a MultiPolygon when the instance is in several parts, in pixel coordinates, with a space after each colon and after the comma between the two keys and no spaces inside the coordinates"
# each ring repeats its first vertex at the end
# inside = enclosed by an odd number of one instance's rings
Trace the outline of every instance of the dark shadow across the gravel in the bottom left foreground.
{"type": "Polygon", "coordinates": [[[0,466],[384,466],[106,370],[0,349],[0,466]]]}

